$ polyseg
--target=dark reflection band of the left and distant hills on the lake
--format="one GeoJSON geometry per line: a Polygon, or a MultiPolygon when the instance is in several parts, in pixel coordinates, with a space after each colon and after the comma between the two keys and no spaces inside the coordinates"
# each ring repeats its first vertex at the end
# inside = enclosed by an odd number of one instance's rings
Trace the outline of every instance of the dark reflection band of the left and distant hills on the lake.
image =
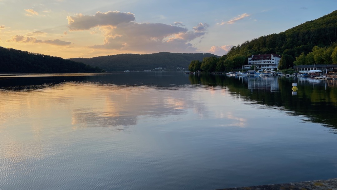
{"type": "Polygon", "coordinates": [[[34,89],[64,82],[93,82],[96,84],[113,84],[122,86],[153,86],[169,88],[174,86],[189,85],[188,75],[182,72],[139,72],[139,73],[99,73],[90,76],[69,74],[60,75],[35,75],[26,77],[2,77],[0,89],[34,89]],[[174,77],[172,77],[174,76],[174,77]]]}

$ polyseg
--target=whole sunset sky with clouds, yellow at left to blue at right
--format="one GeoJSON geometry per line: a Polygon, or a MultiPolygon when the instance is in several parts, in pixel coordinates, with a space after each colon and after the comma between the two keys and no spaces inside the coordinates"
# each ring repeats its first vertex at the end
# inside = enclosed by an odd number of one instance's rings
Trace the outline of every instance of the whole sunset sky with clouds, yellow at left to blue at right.
{"type": "Polygon", "coordinates": [[[0,0],[0,46],[62,58],[222,56],[336,9],[336,0],[0,0]]]}

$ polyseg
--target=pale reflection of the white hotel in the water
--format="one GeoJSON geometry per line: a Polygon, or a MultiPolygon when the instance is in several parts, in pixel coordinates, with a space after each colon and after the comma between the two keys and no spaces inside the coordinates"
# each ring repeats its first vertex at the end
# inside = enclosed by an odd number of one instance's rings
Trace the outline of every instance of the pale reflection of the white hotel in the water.
{"type": "Polygon", "coordinates": [[[246,77],[248,82],[248,89],[253,90],[266,90],[266,91],[279,91],[279,84],[277,77],[259,77],[251,76],[246,77]]]}

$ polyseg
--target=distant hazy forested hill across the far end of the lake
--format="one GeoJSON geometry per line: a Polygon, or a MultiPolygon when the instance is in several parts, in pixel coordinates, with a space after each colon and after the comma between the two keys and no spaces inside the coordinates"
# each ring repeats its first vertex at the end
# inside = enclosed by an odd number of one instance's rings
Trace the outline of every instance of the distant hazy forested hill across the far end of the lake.
{"type": "Polygon", "coordinates": [[[105,71],[144,71],[162,67],[175,70],[177,67],[188,68],[192,60],[202,61],[204,57],[211,57],[210,53],[168,53],[153,54],[118,54],[92,58],[71,58],[69,60],[83,62],[91,66],[98,66],[105,71]]]}

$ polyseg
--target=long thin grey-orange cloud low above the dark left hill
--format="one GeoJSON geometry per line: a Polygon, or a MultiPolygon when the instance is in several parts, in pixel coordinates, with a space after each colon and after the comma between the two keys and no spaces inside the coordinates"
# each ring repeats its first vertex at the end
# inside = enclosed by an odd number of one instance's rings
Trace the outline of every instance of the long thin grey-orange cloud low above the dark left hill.
{"type": "Polygon", "coordinates": [[[13,36],[11,39],[7,40],[6,42],[16,42],[16,43],[30,43],[30,44],[51,44],[57,46],[65,46],[70,45],[71,42],[61,41],[59,39],[54,40],[40,40],[34,37],[25,37],[21,35],[13,36]]]}

